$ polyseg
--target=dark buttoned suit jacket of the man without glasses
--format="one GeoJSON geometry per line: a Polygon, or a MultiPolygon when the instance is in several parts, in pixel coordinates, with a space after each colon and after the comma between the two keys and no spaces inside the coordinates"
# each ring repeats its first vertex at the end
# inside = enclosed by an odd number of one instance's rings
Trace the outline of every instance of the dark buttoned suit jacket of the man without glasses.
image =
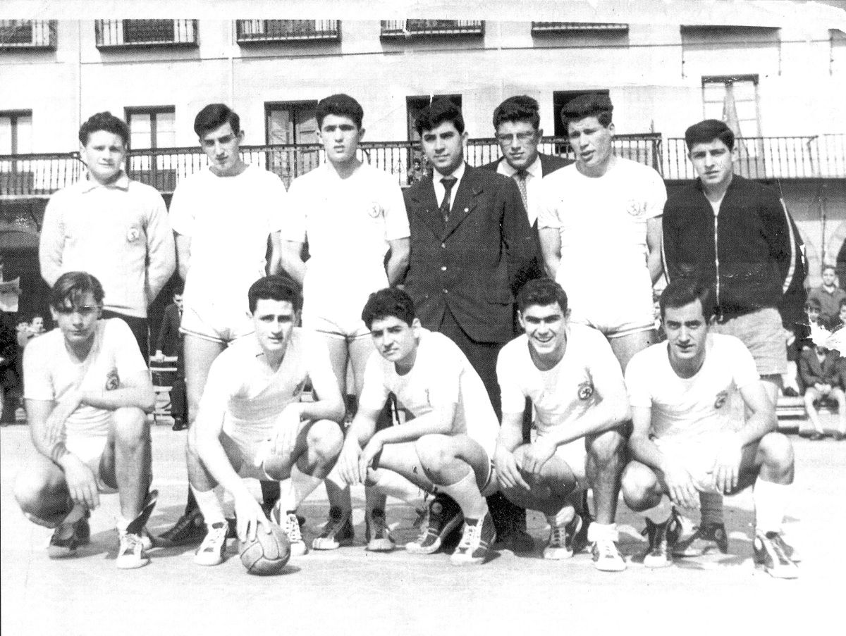
{"type": "Polygon", "coordinates": [[[537,252],[514,179],[464,167],[446,224],[431,177],[404,197],[411,230],[405,290],[420,322],[437,331],[449,308],[476,342],[508,342],[519,271],[537,252]]]}

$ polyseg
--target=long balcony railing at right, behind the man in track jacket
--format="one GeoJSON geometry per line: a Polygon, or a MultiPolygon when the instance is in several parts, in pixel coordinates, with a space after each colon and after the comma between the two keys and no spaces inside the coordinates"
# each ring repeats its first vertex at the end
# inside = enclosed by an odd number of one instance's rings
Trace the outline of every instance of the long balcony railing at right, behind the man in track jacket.
{"type": "MultiPolygon", "coordinates": [[[[844,178],[846,134],[813,137],[741,137],[736,140],[734,171],[746,178],[844,178]]],[[[684,139],[667,139],[664,178],[690,179],[696,174],[684,139]]]]}

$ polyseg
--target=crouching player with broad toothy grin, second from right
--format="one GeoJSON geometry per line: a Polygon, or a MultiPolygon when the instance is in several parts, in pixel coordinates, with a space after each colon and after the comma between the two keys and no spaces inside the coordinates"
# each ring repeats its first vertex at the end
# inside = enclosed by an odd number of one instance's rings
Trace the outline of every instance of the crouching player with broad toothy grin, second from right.
{"type": "Polygon", "coordinates": [[[629,419],[623,373],[611,345],[595,329],[569,322],[567,294],[548,278],[517,294],[525,335],[503,347],[497,379],[503,425],[494,463],[503,494],[539,510],[551,530],[543,557],[563,559],[592,542],[597,569],[626,568],[615,541],[619,475],[629,419]],[[523,443],[525,398],[534,406],[532,441],[523,443]],[[576,511],[593,488],[596,522],[576,511]]]}

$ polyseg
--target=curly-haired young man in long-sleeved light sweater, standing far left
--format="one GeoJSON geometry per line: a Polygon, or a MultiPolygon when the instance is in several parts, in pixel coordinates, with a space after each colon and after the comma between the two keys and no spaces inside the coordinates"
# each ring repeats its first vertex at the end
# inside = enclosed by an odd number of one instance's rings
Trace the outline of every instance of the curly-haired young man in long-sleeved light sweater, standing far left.
{"type": "Polygon", "coordinates": [[[162,195],[126,176],[129,128],[111,112],[80,127],[85,178],[52,195],[38,258],[52,286],[65,271],[88,271],[106,290],[103,317],[129,325],[150,354],[147,306],[173,274],[176,255],[162,195]]]}

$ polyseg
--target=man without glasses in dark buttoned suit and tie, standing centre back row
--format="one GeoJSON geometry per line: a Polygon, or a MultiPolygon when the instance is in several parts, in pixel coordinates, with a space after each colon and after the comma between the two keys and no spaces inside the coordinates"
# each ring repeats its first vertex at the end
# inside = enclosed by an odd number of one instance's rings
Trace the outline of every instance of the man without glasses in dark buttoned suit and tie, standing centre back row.
{"type": "MultiPolygon", "coordinates": [[[[459,345],[501,417],[497,355],[514,337],[514,292],[537,254],[536,235],[514,179],[464,162],[467,133],[458,107],[433,101],[415,126],[433,173],[405,191],[411,230],[405,290],[422,325],[459,345]]],[[[491,502],[494,519],[497,505],[491,502]]],[[[429,533],[444,538],[455,527],[446,511],[454,517],[455,508],[438,495],[429,506],[429,533]]]]}

